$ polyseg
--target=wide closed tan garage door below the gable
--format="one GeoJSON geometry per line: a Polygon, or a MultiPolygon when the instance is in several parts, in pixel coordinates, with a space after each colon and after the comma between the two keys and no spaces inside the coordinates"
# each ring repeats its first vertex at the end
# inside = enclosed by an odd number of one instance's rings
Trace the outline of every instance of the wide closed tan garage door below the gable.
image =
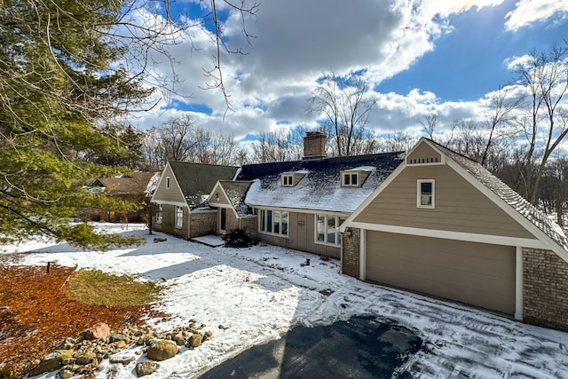
{"type": "Polygon", "coordinates": [[[374,231],[366,242],[367,280],[515,313],[514,247],[374,231]]]}

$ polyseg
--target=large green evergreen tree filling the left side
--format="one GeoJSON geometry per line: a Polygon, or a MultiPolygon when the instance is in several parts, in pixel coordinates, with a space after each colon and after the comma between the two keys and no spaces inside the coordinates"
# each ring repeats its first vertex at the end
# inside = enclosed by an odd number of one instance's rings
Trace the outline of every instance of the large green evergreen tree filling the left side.
{"type": "Polygon", "coordinates": [[[127,157],[111,126],[151,93],[121,66],[125,43],[112,37],[125,5],[0,0],[0,241],[42,233],[99,249],[130,242],[69,224],[82,207],[133,208],[83,189],[123,171],[85,157],[127,157]]]}

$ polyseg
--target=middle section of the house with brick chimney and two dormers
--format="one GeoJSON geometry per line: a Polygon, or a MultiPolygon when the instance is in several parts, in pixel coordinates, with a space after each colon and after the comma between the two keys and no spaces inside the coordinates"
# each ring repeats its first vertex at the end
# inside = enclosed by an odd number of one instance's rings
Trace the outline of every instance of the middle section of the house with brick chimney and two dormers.
{"type": "Polygon", "coordinates": [[[304,158],[248,164],[235,181],[219,181],[209,194],[217,207],[217,233],[244,227],[260,241],[341,256],[338,226],[402,162],[402,154],[329,158],[326,135],[304,138],[304,158]]]}

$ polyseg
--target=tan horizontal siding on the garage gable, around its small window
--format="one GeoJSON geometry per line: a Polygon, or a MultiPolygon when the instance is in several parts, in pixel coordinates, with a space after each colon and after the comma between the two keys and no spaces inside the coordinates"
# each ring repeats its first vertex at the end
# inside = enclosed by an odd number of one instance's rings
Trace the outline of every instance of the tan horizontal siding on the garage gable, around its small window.
{"type": "Polygon", "coordinates": [[[534,239],[446,165],[406,167],[354,221],[534,239]],[[435,209],[416,207],[417,179],[435,179],[435,209]]]}

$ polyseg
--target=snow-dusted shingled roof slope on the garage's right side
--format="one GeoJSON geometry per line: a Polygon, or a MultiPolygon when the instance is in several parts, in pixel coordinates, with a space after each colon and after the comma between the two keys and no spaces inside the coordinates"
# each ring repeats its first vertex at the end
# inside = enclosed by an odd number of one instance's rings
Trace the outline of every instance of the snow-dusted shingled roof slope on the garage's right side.
{"type": "Polygon", "coordinates": [[[424,138],[431,144],[436,146],[442,153],[446,154],[452,161],[458,163],[462,169],[468,171],[477,180],[489,188],[493,193],[505,201],[513,209],[529,220],[533,225],[537,226],[543,233],[555,241],[558,245],[568,251],[568,239],[564,235],[562,229],[556,225],[550,217],[548,217],[540,209],[536,208],[523,196],[511,189],[500,178],[495,177],[491,172],[486,170],[481,164],[469,159],[468,157],[455,153],[445,146],[438,145],[431,139],[424,138]]]}

